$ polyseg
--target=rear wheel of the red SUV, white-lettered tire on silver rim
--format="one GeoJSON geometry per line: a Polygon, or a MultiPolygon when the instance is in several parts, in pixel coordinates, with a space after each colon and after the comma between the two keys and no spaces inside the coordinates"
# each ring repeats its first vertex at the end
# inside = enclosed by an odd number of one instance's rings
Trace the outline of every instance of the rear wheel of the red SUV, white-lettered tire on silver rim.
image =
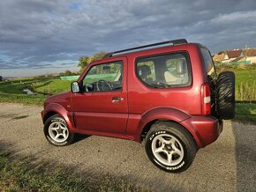
{"type": "Polygon", "coordinates": [[[192,135],[174,122],[156,122],[147,133],[147,157],[165,172],[180,173],[192,165],[198,147],[192,135]]]}

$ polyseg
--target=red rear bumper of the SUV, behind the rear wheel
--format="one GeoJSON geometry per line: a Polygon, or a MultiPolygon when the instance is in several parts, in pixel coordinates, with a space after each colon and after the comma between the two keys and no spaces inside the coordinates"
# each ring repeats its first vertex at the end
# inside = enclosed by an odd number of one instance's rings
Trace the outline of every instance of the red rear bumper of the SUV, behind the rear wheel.
{"type": "Polygon", "coordinates": [[[182,122],[192,133],[199,148],[212,144],[222,132],[223,122],[214,116],[192,116],[182,122]]]}

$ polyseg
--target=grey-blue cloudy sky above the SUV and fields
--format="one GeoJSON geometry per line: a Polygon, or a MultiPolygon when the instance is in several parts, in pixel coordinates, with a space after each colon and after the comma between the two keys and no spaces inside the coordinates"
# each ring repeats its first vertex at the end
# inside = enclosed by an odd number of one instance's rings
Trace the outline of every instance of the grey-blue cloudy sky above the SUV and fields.
{"type": "Polygon", "coordinates": [[[255,0],[2,0],[0,76],[77,71],[79,57],[187,39],[256,47],[255,0]]]}

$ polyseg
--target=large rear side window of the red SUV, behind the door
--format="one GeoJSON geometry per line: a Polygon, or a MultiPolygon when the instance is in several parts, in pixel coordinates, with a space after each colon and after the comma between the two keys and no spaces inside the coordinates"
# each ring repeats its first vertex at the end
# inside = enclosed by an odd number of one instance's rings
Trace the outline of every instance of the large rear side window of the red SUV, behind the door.
{"type": "Polygon", "coordinates": [[[154,55],[136,61],[138,78],[153,88],[191,85],[191,66],[186,53],[154,55]]]}

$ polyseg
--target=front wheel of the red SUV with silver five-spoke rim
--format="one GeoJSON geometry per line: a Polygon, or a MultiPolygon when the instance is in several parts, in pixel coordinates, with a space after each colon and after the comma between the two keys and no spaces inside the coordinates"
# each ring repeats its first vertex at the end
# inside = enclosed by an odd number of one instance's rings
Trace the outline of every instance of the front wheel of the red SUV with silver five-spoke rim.
{"type": "Polygon", "coordinates": [[[74,141],[74,134],[69,131],[67,123],[59,114],[50,116],[44,123],[44,135],[50,144],[56,146],[72,144],[74,141]]]}

